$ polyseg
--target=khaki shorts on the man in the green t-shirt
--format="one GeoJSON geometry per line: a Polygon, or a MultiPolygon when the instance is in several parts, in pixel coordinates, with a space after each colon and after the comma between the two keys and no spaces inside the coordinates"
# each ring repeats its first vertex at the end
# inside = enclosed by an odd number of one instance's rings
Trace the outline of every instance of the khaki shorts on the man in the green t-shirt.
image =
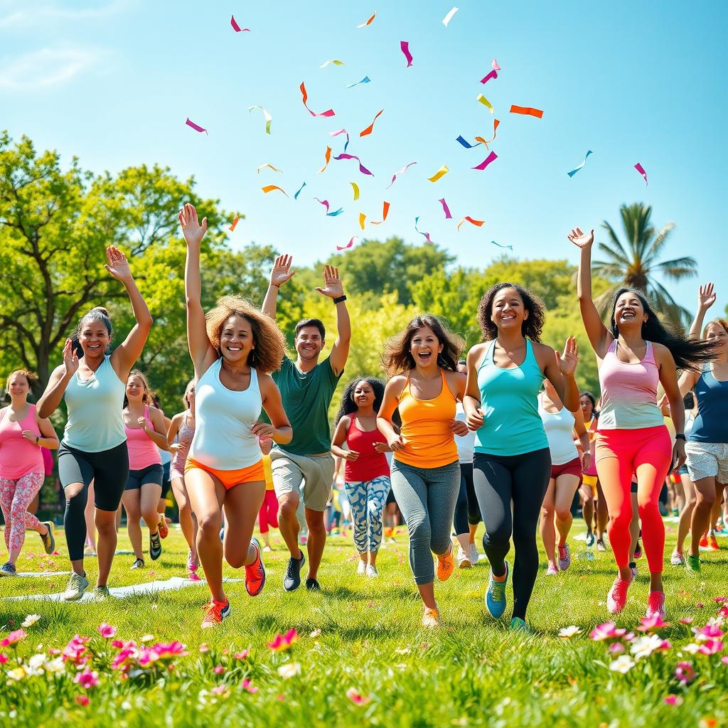
{"type": "Polygon", "coordinates": [[[294,455],[278,448],[271,451],[273,487],[277,498],[287,493],[298,494],[304,484],[304,505],[323,513],[331,497],[333,456],[294,455]]]}

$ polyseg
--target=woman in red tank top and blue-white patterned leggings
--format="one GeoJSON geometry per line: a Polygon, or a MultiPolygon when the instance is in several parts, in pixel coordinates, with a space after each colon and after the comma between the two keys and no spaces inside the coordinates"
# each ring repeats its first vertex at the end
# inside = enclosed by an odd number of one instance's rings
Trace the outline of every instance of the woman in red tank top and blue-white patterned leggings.
{"type": "Polygon", "coordinates": [[[390,452],[376,427],[384,382],[371,377],[349,382],[336,415],[331,452],[344,460],[344,486],[352,509],[357,574],[378,577],[376,555],[381,545],[382,515],[389,494],[390,452]],[[347,443],[348,449],[341,446],[347,443]]]}

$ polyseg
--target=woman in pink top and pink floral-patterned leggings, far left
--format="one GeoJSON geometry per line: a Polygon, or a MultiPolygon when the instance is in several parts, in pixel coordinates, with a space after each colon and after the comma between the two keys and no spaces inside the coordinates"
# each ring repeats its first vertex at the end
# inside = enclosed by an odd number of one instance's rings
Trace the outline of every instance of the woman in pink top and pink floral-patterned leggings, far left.
{"type": "Polygon", "coordinates": [[[25,529],[37,531],[46,553],[53,553],[53,523],[41,523],[28,506],[41,489],[45,468],[41,448],[58,448],[58,435],[50,420],[38,416],[28,403],[31,384],[38,381],[25,369],[10,374],[5,392],[10,404],[0,409],[0,506],[5,519],[8,560],[0,577],[15,576],[15,562],[25,542],[25,529]]]}

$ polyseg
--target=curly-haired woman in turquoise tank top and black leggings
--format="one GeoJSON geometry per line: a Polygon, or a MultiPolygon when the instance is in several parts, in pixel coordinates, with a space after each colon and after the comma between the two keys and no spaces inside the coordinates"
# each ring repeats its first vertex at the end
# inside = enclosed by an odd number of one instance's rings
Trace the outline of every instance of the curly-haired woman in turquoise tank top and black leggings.
{"type": "Polygon", "coordinates": [[[505,612],[510,576],[505,556],[513,535],[510,627],[529,632],[526,609],[539,569],[536,527],[551,475],[538,394],[548,379],[569,411],[579,408],[577,344],[568,339],[561,357],[541,344],[544,304],[515,283],[498,283],[486,292],[478,323],[485,343],[467,355],[464,408],[468,427],[475,430],[473,485],[486,526],[483,549],[491,564],[486,608],[496,619],[505,612]]]}

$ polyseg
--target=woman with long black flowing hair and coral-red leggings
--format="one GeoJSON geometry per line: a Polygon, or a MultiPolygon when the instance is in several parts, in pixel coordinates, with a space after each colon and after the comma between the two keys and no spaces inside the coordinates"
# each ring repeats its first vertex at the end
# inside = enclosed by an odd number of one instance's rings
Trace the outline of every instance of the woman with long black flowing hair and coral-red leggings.
{"type": "Polygon", "coordinates": [[[662,564],[665,526],[657,501],[670,464],[685,461],[685,410],[676,368],[699,370],[715,355],[706,341],[687,339],[668,331],[648,301],[632,288],[620,288],[612,304],[612,330],[606,328],[592,300],[591,248],[594,231],[571,230],[569,240],[581,250],[577,293],[582,321],[597,355],[602,406],[598,420],[596,467],[609,508],[609,542],[619,573],[609,590],[606,606],[617,614],[627,603],[633,579],[629,568],[630,485],[637,478],[637,504],[642,521],[644,550],[650,571],[647,617],[665,617],[662,564]],[[670,403],[676,431],[670,435],[657,407],[657,385],[670,403]]]}

